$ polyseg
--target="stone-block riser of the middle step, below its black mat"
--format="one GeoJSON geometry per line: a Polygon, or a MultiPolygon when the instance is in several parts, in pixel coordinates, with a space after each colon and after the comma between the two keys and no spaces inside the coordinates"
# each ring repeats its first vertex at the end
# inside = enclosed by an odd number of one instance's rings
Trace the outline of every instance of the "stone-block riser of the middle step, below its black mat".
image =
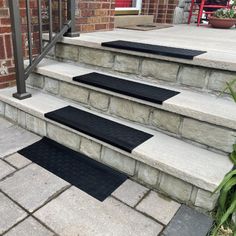
{"type": "Polygon", "coordinates": [[[195,119],[195,116],[187,116],[188,114],[182,115],[163,110],[163,106],[154,107],[153,104],[142,104],[142,101],[140,103],[137,99],[132,100],[115,93],[109,94],[95,87],[73,81],[67,83],[40,74],[32,74],[27,84],[46,93],[77,102],[89,109],[154,130],[161,130],[205,149],[231,152],[235,142],[236,130],[224,126],[224,122],[221,122],[222,125],[209,123],[204,121],[204,117],[195,119]]]}

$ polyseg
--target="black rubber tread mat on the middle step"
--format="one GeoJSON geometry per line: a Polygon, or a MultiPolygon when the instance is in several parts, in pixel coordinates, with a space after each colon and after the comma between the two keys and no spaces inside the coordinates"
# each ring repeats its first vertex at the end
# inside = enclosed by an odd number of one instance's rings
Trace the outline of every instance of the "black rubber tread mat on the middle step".
{"type": "Polygon", "coordinates": [[[73,80],[157,104],[162,104],[165,100],[179,94],[179,92],[176,91],[119,79],[95,72],[74,77],[73,80]]]}

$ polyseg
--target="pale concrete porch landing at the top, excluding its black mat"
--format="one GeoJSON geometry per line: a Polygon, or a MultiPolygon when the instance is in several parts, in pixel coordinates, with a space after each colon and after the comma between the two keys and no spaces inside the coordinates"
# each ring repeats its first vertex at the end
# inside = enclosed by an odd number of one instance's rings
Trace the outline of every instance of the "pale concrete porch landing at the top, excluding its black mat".
{"type": "MultiPolygon", "coordinates": [[[[136,31],[126,29],[115,29],[114,31],[82,33],[78,38],[64,37],[62,42],[72,45],[101,48],[101,43],[113,40],[127,40],[133,42],[180,47],[207,51],[194,58],[184,60],[178,58],[163,57],[145,53],[131,52],[131,55],[142,55],[143,57],[157,58],[167,61],[182,62],[222,70],[236,71],[236,28],[214,29],[208,26],[196,27],[195,25],[174,25],[174,27],[136,31]]],[[[103,47],[103,49],[106,49],[103,47]]],[[[109,51],[122,51],[107,49],[109,51]]]]}

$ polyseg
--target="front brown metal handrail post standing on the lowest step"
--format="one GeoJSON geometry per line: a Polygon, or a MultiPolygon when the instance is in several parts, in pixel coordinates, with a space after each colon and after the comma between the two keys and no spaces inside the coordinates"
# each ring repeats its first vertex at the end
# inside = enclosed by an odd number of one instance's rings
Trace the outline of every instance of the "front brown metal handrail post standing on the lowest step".
{"type": "Polygon", "coordinates": [[[9,8],[17,86],[17,92],[13,94],[13,97],[22,100],[31,97],[31,94],[26,92],[19,0],[9,0],[9,8]]]}

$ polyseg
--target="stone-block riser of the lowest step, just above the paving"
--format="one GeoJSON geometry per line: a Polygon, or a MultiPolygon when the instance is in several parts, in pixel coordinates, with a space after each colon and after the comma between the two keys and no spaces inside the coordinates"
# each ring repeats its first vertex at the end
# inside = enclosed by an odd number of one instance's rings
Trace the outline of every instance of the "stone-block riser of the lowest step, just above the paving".
{"type": "Polygon", "coordinates": [[[41,112],[23,107],[19,108],[13,104],[0,102],[0,116],[40,136],[47,136],[64,146],[122,171],[136,181],[173,199],[202,211],[209,211],[214,208],[217,199],[216,194],[212,196],[209,191],[140,162],[133,154],[50,121],[41,112]]]}

